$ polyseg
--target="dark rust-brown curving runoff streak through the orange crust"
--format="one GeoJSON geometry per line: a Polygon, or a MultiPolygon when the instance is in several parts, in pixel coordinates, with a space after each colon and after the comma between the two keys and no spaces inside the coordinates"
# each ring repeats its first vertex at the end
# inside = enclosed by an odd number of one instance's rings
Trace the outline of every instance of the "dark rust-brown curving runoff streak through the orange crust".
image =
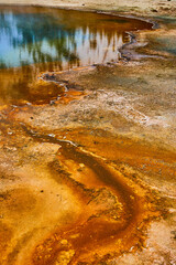
{"type": "MultiPolygon", "coordinates": [[[[58,181],[66,183],[73,189],[75,195],[81,198],[82,210],[85,210],[80,214],[79,222],[74,223],[72,227],[56,229],[46,241],[36,247],[33,253],[34,264],[55,264],[63,252],[73,253],[70,264],[84,264],[87,258],[90,261],[85,264],[96,264],[96,259],[98,262],[108,253],[118,255],[129,251],[132,246],[143,245],[143,230],[148,220],[157,213],[151,211],[142,189],[139,195],[140,189],[135,190],[134,186],[128,184],[123,173],[108,166],[100,157],[69,141],[35,134],[22,127],[35,141],[59,145],[58,161],[50,163],[51,173],[55,180],[59,176],[58,181]],[[69,163],[65,166],[66,170],[63,169],[63,163],[67,161],[69,163]],[[82,172],[79,171],[80,177],[77,181],[75,180],[75,165],[76,167],[84,165],[84,170],[80,168],[82,172]],[[81,174],[84,181],[81,181],[81,174]],[[92,179],[94,184],[91,184],[92,179]],[[107,200],[114,198],[114,203],[109,210],[101,210],[106,197],[107,200]],[[95,212],[97,206],[100,209],[95,212]],[[63,245],[62,241],[66,243],[63,245]],[[96,258],[95,255],[97,255],[96,258]]],[[[74,132],[77,135],[77,131],[74,132]]]]}

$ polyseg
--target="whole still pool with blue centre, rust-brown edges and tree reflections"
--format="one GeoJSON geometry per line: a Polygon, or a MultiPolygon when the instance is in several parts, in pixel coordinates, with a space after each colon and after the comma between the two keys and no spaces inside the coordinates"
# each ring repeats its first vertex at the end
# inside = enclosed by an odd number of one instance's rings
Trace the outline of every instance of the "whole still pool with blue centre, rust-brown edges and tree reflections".
{"type": "Polygon", "coordinates": [[[116,62],[128,31],[151,24],[96,12],[0,8],[0,104],[45,103],[63,93],[34,84],[41,72],[116,62]]]}

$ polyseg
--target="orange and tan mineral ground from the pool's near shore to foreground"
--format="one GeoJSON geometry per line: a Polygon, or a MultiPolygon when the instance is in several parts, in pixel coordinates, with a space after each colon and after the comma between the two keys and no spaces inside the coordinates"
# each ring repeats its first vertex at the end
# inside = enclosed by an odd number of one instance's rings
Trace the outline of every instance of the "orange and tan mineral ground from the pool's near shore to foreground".
{"type": "Polygon", "coordinates": [[[175,21],[155,20],[118,63],[36,75],[59,97],[1,105],[1,264],[176,263],[175,21]]]}

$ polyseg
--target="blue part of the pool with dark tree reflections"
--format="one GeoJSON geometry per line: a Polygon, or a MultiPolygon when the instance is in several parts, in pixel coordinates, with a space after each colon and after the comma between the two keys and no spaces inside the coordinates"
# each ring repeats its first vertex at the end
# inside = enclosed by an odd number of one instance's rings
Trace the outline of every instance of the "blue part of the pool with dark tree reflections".
{"type": "Polygon", "coordinates": [[[79,42],[79,30],[67,31],[51,15],[0,13],[0,67],[76,61],[73,52],[79,42]]]}

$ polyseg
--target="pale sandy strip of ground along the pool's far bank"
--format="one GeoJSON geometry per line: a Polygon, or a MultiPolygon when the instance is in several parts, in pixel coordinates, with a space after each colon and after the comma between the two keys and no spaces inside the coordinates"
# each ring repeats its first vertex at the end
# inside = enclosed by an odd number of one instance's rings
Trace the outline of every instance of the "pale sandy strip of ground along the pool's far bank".
{"type": "Polygon", "coordinates": [[[67,8],[81,8],[81,9],[97,9],[97,10],[114,10],[118,12],[130,12],[130,13],[166,13],[174,14],[176,11],[176,1],[161,1],[161,0],[0,0],[0,3],[6,4],[38,4],[38,6],[51,6],[51,7],[67,7],[67,8]]]}

